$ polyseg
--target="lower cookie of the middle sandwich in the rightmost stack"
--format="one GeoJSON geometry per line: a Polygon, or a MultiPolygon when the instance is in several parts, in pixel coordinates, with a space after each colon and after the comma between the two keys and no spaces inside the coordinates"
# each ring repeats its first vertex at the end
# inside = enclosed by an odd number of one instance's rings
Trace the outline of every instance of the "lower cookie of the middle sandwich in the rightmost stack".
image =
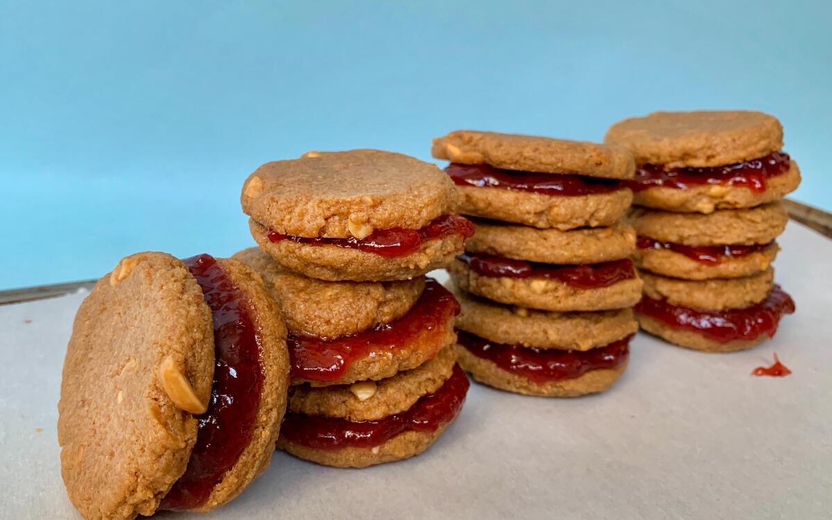
{"type": "Polygon", "coordinates": [[[747,255],[722,258],[718,264],[711,264],[694,260],[672,250],[636,249],[633,261],[641,270],[685,280],[742,278],[757,275],[769,269],[779,250],[780,246],[771,244],[763,250],[747,255]]]}

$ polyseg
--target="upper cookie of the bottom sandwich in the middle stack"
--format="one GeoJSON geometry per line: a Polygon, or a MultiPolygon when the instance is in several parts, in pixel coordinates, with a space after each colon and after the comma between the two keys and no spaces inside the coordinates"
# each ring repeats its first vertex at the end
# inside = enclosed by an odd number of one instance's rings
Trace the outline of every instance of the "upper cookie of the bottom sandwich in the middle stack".
{"type": "Polygon", "coordinates": [[[495,304],[452,288],[462,306],[457,328],[501,344],[537,349],[589,350],[635,334],[631,309],[547,312],[495,304]]]}

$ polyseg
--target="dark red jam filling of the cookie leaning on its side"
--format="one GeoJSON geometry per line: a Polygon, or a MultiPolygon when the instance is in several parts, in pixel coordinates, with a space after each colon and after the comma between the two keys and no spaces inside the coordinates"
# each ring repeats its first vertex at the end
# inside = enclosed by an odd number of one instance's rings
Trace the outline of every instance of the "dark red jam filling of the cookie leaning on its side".
{"type": "Polygon", "coordinates": [[[188,467],[161,503],[162,509],[173,510],[200,507],[234,467],[254,433],[264,379],[250,300],[214,257],[197,255],[183,261],[214,318],[215,367],[208,410],[197,417],[188,467]]]}

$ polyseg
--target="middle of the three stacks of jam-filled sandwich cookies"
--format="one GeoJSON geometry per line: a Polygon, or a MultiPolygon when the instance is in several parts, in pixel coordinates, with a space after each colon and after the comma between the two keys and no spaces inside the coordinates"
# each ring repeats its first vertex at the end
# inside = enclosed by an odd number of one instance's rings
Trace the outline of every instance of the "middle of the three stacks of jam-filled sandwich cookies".
{"type": "Polygon", "coordinates": [[[520,394],[572,397],[621,376],[637,324],[633,176],[621,146],[482,131],[433,141],[476,230],[449,267],[459,364],[520,394]]]}

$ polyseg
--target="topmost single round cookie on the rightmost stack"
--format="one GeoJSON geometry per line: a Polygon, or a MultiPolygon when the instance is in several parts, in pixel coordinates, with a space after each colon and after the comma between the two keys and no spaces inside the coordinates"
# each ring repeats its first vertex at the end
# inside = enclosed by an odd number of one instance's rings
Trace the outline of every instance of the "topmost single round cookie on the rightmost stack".
{"type": "Polygon", "coordinates": [[[626,146],[636,164],[724,166],[779,151],[783,127],[759,111],[657,111],[617,122],[604,141],[626,146]]]}

